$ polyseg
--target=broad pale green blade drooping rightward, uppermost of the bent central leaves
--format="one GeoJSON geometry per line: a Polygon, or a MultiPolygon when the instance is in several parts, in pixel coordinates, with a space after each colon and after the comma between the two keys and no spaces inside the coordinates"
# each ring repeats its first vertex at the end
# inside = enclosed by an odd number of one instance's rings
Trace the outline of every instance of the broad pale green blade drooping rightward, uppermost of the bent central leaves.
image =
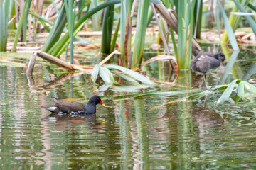
{"type": "Polygon", "coordinates": [[[105,67],[107,69],[117,69],[121,72],[124,72],[125,74],[128,74],[130,77],[133,77],[134,79],[137,79],[137,80],[141,81],[144,84],[154,84],[154,82],[151,81],[150,79],[147,79],[142,74],[134,72],[131,69],[127,69],[125,67],[121,67],[121,66],[118,66],[118,65],[106,65],[105,67]]]}

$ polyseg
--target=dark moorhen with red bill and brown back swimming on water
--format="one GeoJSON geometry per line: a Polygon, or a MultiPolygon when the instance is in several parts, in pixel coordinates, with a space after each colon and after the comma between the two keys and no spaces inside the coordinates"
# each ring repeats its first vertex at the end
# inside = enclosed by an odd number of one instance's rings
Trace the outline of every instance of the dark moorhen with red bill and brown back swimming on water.
{"type": "Polygon", "coordinates": [[[41,106],[41,108],[46,108],[48,111],[52,113],[68,113],[75,115],[84,115],[84,114],[94,114],[96,113],[96,105],[101,104],[105,106],[99,96],[95,95],[90,98],[87,105],[83,103],[78,103],[75,101],[63,101],[58,100],[56,98],[50,98],[55,105],[53,106],[41,106]]]}

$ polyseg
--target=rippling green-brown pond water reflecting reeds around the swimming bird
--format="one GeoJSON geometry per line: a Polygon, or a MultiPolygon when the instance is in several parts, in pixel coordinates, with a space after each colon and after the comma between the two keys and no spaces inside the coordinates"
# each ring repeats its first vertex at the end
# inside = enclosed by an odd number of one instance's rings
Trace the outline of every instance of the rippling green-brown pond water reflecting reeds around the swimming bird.
{"type": "MultiPolygon", "coordinates": [[[[27,77],[23,67],[0,66],[0,169],[256,167],[256,102],[252,94],[239,103],[215,106],[221,95],[215,94],[151,110],[189,93],[115,96],[189,90],[196,88],[200,79],[189,71],[170,76],[168,69],[163,69],[163,77],[157,74],[159,67],[154,62],[147,67],[147,74],[162,81],[176,77],[175,86],[112,86],[106,90],[102,82],[93,85],[90,74],[75,75],[50,67],[54,66],[38,63],[33,77],[27,77]],[[56,81],[49,80],[50,74],[55,74],[56,81]],[[40,107],[53,103],[48,94],[85,103],[98,94],[107,107],[97,106],[96,115],[50,114],[40,107]]],[[[225,67],[221,67],[210,74],[208,85],[243,78],[253,82],[253,68],[251,62],[235,62],[232,69],[238,72],[231,71],[223,79],[225,67]]]]}

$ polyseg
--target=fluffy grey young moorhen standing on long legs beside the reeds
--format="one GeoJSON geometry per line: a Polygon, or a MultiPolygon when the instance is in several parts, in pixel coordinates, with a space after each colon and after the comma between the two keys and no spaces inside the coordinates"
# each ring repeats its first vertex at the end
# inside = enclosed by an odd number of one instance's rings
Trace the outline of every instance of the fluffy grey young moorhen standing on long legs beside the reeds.
{"type": "Polygon", "coordinates": [[[225,55],[222,52],[213,54],[211,52],[200,52],[191,62],[191,70],[203,75],[203,89],[208,89],[206,84],[206,74],[212,69],[220,67],[224,63],[225,55]]]}

